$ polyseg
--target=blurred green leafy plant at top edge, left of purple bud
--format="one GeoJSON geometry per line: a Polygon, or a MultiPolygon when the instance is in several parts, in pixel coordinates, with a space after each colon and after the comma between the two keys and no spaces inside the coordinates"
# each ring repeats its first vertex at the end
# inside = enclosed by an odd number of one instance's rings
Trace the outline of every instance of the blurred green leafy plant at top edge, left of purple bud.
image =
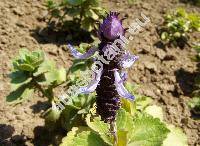
{"type": "Polygon", "coordinates": [[[50,21],[54,18],[62,29],[73,29],[76,32],[79,26],[92,31],[97,25],[96,21],[102,19],[106,12],[100,7],[100,0],[62,0],[60,3],[48,0],[46,6],[50,21]]]}

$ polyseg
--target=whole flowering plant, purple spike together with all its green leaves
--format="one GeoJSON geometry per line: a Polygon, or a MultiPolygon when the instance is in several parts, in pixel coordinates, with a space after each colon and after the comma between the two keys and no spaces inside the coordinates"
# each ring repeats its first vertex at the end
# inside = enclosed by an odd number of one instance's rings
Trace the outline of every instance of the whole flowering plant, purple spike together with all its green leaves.
{"type": "Polygon", "coordinates": [[[151,98],[137,95],[134,86],[126,83],[125,68],[138,57],[119,43],[124,34],[119,13],[111,12],[99,25],[98,47],[79,47],[81,53],[68,44],[76,59],[67,71],[58,69],[41,50],[21,50],[13,61],[10,77],[15,88],[7,101],[19,103],[30,91],[48,97],[52,108],[45,112],[46,124],[67,132],[60,146],[187,146],[183,132],[164,122],[162,108],[151,105],[151,98]],[[117,42],[114,47],[113,42],[117,42]],[[56,87],[64,84],[62,88],[69,89],[87,78],[83,73],[88,69],[94,72],[92,82],[76,88],[77,94],[54,94],[56,87]],[[62,110],[59,100],[64,103],[62,110]]]}

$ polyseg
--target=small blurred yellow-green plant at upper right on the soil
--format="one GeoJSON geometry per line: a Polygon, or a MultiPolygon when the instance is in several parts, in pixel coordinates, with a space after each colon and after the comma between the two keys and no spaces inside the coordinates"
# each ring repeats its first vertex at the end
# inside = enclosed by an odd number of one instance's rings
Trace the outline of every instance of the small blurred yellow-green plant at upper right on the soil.
{"type": "Polygon", "coordinates": [[[158,33],[163,42],[183,48],[189,45],[189,33],[193,31],[200,31],[200,15],[180,8],[164,17],[163,27],[158,33]]]}

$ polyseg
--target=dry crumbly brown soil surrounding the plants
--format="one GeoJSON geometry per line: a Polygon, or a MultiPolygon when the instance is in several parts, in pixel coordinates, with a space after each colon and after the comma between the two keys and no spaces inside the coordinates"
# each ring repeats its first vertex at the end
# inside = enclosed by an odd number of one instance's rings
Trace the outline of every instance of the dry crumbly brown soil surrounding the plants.
{"type": "MultiPolygon", "coordinates": [[[[48,32],[44,17],[47,14],[44,0],[0,1],[0,146],[47,146],[53,143],[53,135],[44,128],[41,113],[48,108],[46,99],[37,94],[32,99],[12,106],[5,97],[10,91],[8,74],[11,59],[21,47],[30,50],[43,49],[58,64],[68,67],[71,58],[66,52],[65,34],[48,32]]],[[[126,1],[103,1],[109,10],[117,10],[128,16],[128,25],[143,12],[151,18],[145,30],[134,37],[130,49],[140,56],[129,70],[133,83],[141,85],[139,93],[151,96],[165,110],[166,120],[184,129],[190,146],[200,145],[200,123],[194,120],[187,107],[193,91],[196,63],[192,61],[196,52],[190,48],[164,47],[159,43],[156,28],[162,23],[165,11],[185,7],[198,11],[198,7],[177,0],[145,0],[128,5],[126,1]]],[[[200,34],[193,34],[197,40],[200,34]]]]}

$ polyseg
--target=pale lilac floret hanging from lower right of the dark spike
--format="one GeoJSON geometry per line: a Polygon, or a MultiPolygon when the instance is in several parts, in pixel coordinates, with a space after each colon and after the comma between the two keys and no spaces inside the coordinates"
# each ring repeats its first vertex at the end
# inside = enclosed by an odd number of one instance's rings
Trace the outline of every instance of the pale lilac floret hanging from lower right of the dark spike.
{"type": "Polygon", "coordinates": [[[135,96],[133,96],[131,93],[129,93],[126,88],[123,85],[122,79],[118,73],[117,70],[114,71],[114,76],[115,76],[115,86],[117,89],[117,92],[120,96],[124,98],[128,98],[130,100],[134,100],[135,96]]]}

